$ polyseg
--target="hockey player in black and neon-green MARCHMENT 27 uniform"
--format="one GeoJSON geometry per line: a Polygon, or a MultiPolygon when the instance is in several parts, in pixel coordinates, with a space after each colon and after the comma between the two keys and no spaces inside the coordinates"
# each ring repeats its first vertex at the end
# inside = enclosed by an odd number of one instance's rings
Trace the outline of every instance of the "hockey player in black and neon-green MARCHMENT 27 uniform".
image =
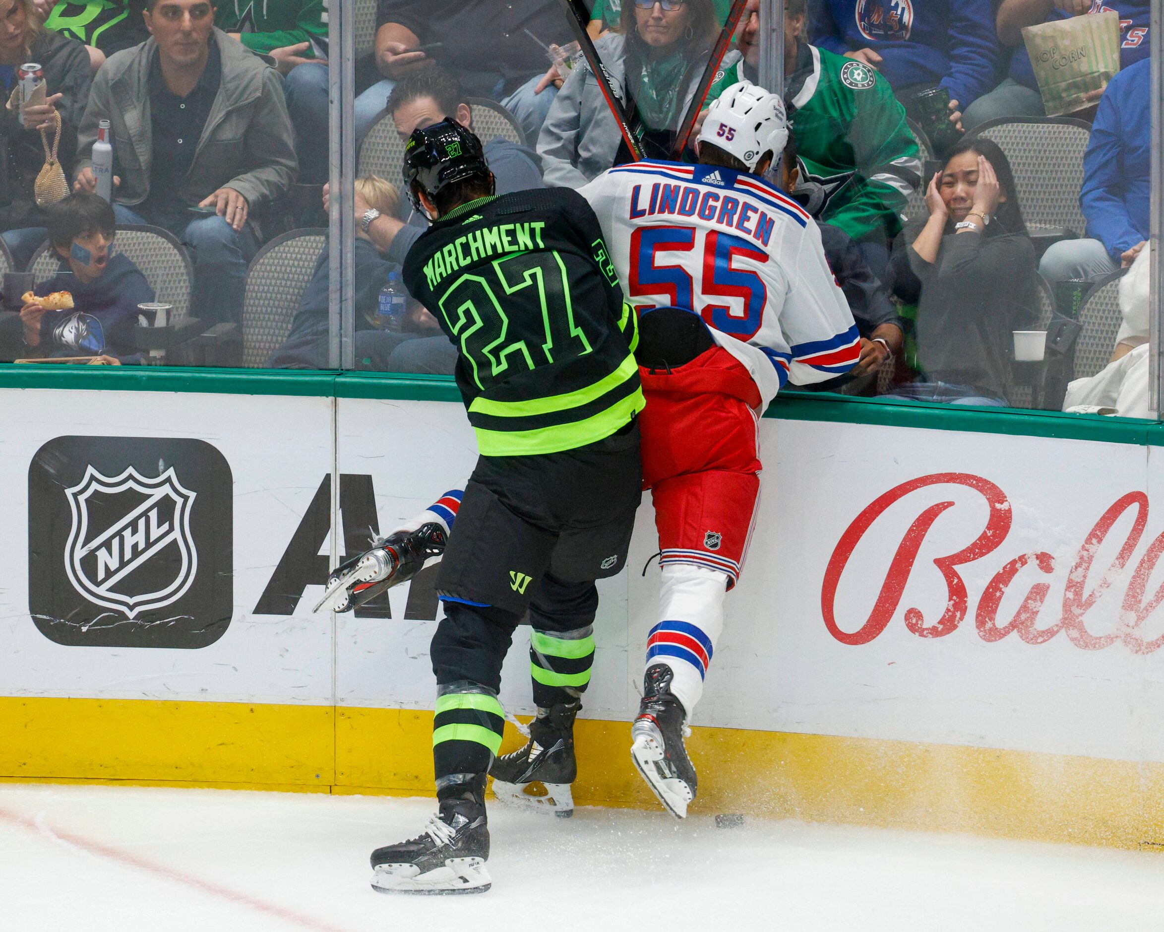
{"type": "MultiPolygon", "coordinates": [[[[480,141],[452,120],[412,134],[404,174],[433,220],[404,281],[460,351],[456,382],[481,457],[436,580],[440,809],[418,838],[372,853],[372,887],[478,892],[490,885],[485,775],[502,741],[497,693],[513,630],[528,612],[551,655],[592,654],[595,580],[626,559],[641,483],[637,325],[598,220],[574,191],[495,197],[480,141]]],[[[341,594],[359,601],[355,586],[377,572],[341,594]]],[[[547,676],[534,697],[558,723],[577,711],[570,682],[547,676]]]]}

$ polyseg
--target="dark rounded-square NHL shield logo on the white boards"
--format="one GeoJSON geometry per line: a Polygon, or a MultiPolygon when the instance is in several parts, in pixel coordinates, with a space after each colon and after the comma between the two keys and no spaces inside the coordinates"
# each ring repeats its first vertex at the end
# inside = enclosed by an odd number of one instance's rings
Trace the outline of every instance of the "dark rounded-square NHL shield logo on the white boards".
{"type": "Polygon", "coordinates": [[[234,610],[233,495],[203,440],[49,440],[28,471],[36,627],[70,645],[214,643],[234,610]]]}

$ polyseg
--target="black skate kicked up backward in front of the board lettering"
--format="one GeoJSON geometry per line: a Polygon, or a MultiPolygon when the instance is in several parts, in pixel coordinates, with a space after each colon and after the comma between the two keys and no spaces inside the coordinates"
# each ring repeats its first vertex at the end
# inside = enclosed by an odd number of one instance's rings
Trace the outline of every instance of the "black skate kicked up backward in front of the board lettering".
{"type": "Polygon", "coordinates": [[[445,552],[448,536],[436,523],[421,524],[409,534],[377,538],[371,550],[340,564],[327,577],[327,592],[315,610],[350,612],[384,589],[407,582],[425,560],[445,552]]]}

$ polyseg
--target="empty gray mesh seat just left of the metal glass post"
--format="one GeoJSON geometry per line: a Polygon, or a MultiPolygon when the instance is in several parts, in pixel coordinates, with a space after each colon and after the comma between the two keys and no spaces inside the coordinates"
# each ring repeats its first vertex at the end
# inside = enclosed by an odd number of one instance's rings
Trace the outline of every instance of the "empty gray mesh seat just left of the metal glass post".
{"type": "Polygon", "coordinates": [[[286,343],[291,320],[327,242],[327,230],[292,230],[267,243],[247,271],[242,305],[242,365],[262,368],[286,343]]]}

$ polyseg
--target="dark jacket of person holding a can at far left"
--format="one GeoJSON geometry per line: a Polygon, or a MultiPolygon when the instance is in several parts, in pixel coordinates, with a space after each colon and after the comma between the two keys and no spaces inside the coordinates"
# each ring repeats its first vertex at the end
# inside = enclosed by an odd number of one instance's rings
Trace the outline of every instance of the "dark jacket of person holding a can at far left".
{"type": "MultiPolygon", "coordinates": [[[[65,178],[71,182],[77,158],[77,127],[93,85],[88,52],[76,40],[44,31],[33,43],[29,61],[38,62],[44,70],[45,90],[50,97],[64,94],[57,101],[62,120],[57,155],[65,178]]],[[[44,212],[36,206],[33,188],[44,165],[41,134],[35,129],[24,129],[20,116],[5,107],[0,110],[0,140],[3,143],[0,158],[0,230],[44,226],[44,212]]],[[[51,141],[52,135],[49,134],[50,144],[51,141]]]]}

